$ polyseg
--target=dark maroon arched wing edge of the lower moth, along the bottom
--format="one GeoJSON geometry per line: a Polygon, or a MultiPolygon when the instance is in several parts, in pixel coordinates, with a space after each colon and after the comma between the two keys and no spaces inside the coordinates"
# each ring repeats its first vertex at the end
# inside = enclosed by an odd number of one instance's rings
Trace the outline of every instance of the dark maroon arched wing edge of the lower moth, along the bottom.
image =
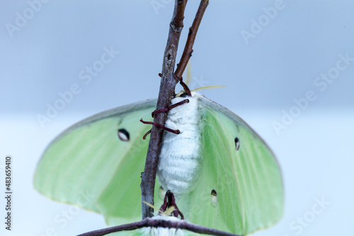
{"type": "Polygon", "coordinates": [[[231,232],[224,232],[221,230],[215,230],[212,228],[207,228],[201,225],[195,225],[193,223],[189,223],[185,220],[171,221],[171,220],[154,220],[152,218],[145,218],[144,220],[130,223],[126,225],[118,225],[110,228],[105,228],[101,230],[94,230],[91,232],[85,232],[84,234],[78,236],[102,236],[108,235],[112,232],[120,232],[125,230],[137,230],[143,227],[161,227],[161,228],[176,228],[181,230],[189,230],[192,232],[197,232],[204,235],[219,235],[219,236],[239,236],[234,235],[231,232]]]}

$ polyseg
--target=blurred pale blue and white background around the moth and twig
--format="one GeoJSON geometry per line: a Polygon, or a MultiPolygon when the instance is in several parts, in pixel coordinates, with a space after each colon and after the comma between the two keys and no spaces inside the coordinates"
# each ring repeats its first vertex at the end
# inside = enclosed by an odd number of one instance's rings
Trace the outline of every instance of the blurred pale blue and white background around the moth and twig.
{"type": "MultiPolygon", "coordinates": [[[[178,61],[198,4],[188,2],[178,61]]],[[[3,192],[5,157],[13,158],[13,225],[8,232],[1,223],[1,235],[77,235],[105,227],[101,215],[38,194],[35,167],[68,126],[157,97],[173,5],[0,2],[3,192]]],[[[227,85],[202,93],[248,122],[282,167],[284,216],[254,235],[352,231],[353,11],[353,1],[210,1],[190,86],[227,85]]],[[[5,204],[1,198],[3,220],[5,204]]]]}

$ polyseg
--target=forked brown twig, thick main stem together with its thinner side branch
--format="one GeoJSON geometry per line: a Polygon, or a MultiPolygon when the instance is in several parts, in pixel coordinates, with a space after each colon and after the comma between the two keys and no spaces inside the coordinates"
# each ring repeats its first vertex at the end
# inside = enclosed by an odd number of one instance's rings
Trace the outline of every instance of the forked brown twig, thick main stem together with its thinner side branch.
{"type": "MultiPolygon", "coordinates": [[[[179,62],[176,72],[174,66],[176,64],[176,54],[178,49],[178,42],[181,36],[181,30],[183,29],[183,18],[185,5],[187,0],[176,0],[175,8],[173,11],[173,17],[169,28],[169,37],[164,52],[164,63],[161,71],[161,83],[159,90],[159,98],[157,99],[156,110],[163,110],[169,107],[171,98],[175,94],[176,84],[181,80],[183,71],[188,64],[188,60],[193,52],[193,44],[195,36],[197,35],[200,21],[207,8],[209,1],[200,1],[200,6],[195,15],[192,27],[188,33],[188,39],[183,50],[181,61],[179,62]]],[[[156,113],[154,116],[154,124],[158,126],[152,126],[150,134],[149,148],[147,151],[147,160],[145,162],[144,172],[142,174],[142,183],[140,188],[142,189],[142,201],[146,201],[154,205],[154,187],[156,181],[157,164],[159,161],[159,153],[161,151],[162,137],[164,134],[164,124],[167,119],[166,112],[156,113]],[[161,125],[161,126],[160,126],[161,125]]],[[[146,137],[146,136],[145,136],[146,137]]],[[[142,218],[153,216],[154,208],[142,203],[142,218]]]]}

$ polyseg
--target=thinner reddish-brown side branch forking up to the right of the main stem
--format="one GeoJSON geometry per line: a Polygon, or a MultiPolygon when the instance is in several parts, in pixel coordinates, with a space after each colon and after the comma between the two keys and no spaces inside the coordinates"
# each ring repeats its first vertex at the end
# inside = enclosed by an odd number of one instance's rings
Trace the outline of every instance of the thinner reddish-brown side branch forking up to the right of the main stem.
{"type": "Polygon", "coordinates": [[[178,78],[181,78],[183,71],[185,70],[185,67],[188,64],[190,57],[192,57],[195,36],[197,36],[200,21],[202,20],[202,16],[204,15],[205,9],[207,8],[208,4],[209,4],[209,0],[200,1],[200,5],[199,5],[197,13],[195,14],[193,24],[189,28],[188,38],[187,38],[187,42],[185,42],[185,47],[183,50],[181,61],[178,63],[178,66],[177,66],[177,69],[175,72],[175,75],[178,78]]]}

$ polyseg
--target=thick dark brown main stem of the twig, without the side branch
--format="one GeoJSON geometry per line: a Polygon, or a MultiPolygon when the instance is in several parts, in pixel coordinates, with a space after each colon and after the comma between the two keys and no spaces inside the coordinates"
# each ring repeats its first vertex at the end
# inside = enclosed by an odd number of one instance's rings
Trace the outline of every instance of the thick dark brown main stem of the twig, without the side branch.
{"type": "MultiPolygon", "coordinates": [[[[186,4],[187,0],[175,1],[175,8],[169,29],[169,38],[164,52],[164,62],[162,65],[161,83],[156,110],[166,108],[170,105],[176,84],[178,83],[173,71],[176,64],[178,42],[181,36],[181,30],[183,29],[183,18],[186,4]]],[[[155,115],[154,122],[156,124],[164,125],[166,118],[167,113],[161,112],[155,115]]],[[[163,129],[152,126],[152,133],[150,135],[149,148],[147,151],[147,160],[145,162],[144,172],[142,173],[142,183],[140,184],[140,188],[142,189],[142,201],[146,201],[152,205],[154,205],[156,170],[163,134],[163,129]]],[[[152,213],[154,213],[154,209],[147,206],[147,204],[142,203],[142,218],[151,217],[152,213]]]]}

